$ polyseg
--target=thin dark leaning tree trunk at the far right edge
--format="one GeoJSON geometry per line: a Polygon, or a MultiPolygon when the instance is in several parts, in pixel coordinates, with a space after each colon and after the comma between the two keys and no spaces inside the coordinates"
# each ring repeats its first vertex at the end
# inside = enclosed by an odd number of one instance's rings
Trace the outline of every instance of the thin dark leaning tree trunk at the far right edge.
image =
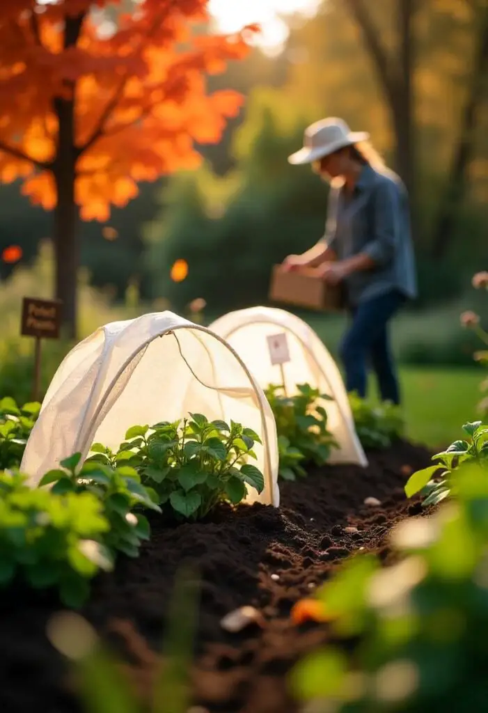
{"type": "Polygon", "coordinates": [[[481,36],[474,60],[466,106],[462,115],[460,135],[452,155],[446,188],[440,204],[432,237],[432,257],[444,257],[455,233],[455,218],[467,189],[467,169],[472,159],[479,106],[486,98],[485,83],[488,72],[488,6],[480,18],[481,36]]]}

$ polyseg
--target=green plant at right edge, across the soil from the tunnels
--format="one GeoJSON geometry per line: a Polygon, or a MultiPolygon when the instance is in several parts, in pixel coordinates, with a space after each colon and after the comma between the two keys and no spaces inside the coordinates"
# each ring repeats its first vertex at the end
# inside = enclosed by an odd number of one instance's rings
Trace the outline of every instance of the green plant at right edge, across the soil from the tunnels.
{"type": "Polygon", "coordinates": [[[424,507],[437,505],[447,496],[455,495],[452,473],[461,463],[477,463],[483,470],[488,470],[488,426],[483,426],[482,421],[474,421],[464,424],[462,429],[468,439],[455,441],[446,451],[432,456],[435,466],[413,473],[405,485],[407,497],[422,493],[424,507]],[[441,468],[442,473],[439,472],[441,468]]]}

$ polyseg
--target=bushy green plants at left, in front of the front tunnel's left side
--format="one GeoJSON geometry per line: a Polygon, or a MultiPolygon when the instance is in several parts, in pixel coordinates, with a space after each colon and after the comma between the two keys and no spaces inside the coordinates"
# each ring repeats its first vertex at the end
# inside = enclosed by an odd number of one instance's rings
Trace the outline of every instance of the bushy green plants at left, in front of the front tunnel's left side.
{"type": "MultiPolygon", "coordinates": [[[[6,399],[1,403],[14,411],[6,399]]],[[[24,409],[36,414],[36,406],[24,409]]],[[[80,461],[80,453],[66,458],[38,488],[21,473],[0,473],[0,585],[21,573],[34,588],[56,586],[64,604],[78,606],[88,597],[90,578],[111,570],[118,552],[137,557],[149,539],[140,510],[161,510],[137,471],[113,468],[106,459],[91,459],[79,470],[80,461]]]]}

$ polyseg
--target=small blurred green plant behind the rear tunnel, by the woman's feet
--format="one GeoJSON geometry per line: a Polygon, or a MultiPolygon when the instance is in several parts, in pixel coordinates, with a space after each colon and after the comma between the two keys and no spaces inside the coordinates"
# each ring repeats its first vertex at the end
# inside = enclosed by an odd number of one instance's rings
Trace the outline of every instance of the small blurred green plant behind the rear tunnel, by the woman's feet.
{"type": "Polygon", "coordinates": [[[349,394],[355,430],[363,446],[369,450],[389,448],[403,435],[405,424],[398,406],[385,401],[371,404],[358,394],[349,394]]]}

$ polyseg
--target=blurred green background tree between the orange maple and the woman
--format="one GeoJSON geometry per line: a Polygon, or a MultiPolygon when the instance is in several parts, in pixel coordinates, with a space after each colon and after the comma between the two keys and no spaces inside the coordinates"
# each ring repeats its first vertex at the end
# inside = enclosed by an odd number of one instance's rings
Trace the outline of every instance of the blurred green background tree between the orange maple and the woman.
{"type": "Polygon", "coordinates": [[[266,302],[271,265],[307,250],[324,231],[326,185],[308,166],[286,162],[305,123],[285,94],[256,89],[234,134],[234,172],[172,179],[162,194],[163,217],[147,231],[153,297],[175,309],[204,297],[217,311],[266,302]],[[180,258],[188,277],[172,282],[170,266],[180,258]]]}

